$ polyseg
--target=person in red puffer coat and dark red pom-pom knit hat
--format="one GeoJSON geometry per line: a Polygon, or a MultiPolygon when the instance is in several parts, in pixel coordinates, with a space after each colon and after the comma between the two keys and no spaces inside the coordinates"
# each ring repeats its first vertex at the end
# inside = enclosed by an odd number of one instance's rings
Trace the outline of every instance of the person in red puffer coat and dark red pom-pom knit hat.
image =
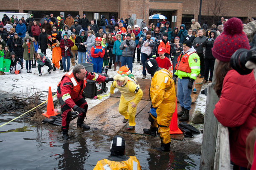
{"type": "Polygon", "coordinates": [[[230,58],[239,48],[249,50],[249,41],[243,32],[241,20],[231,18],[212,48],[212,55],[218,62],[214,89],[220,97],[213,113],[218,122],[229,127],[230,159],[234,163],[233,169],[247,170],[249,162],[245,153],[245,141],[256,126],[256,81],[252,72],[240,75],[232,69],[230,58]]]}

